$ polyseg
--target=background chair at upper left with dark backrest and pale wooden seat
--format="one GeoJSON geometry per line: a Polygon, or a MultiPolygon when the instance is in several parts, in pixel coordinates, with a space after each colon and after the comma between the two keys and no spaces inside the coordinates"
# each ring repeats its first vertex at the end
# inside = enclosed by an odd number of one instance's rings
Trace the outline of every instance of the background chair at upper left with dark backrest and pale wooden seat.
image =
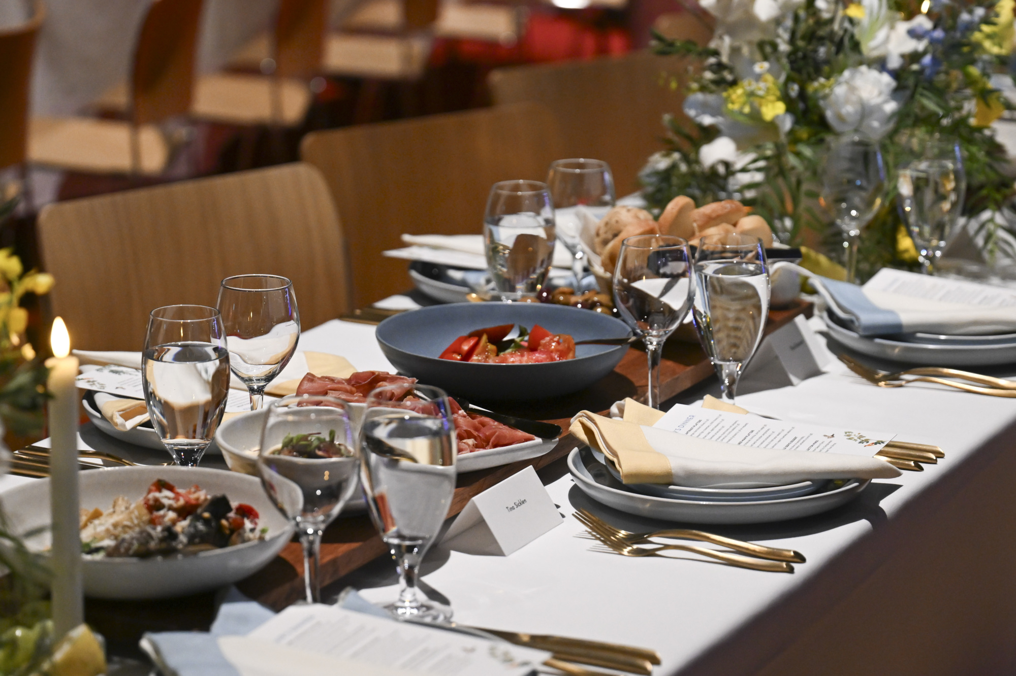
{"type": "Polygon", "coordinates": [[[201,6],[202,0],[154,0],[149,7],[138,32],[129,83],[98,103],[122,111],[126,122],[34,119],[29,159],[81,172],[162,174],[172,147],[157,125],[190,110],[201,6]]]}

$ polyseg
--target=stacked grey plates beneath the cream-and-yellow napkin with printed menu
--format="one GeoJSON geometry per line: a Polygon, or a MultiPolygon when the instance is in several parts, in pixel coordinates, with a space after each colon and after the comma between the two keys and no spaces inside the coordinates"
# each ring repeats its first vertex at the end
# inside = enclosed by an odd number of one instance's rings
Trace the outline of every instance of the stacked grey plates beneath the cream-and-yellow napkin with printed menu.
{"type": "Polygon", "coordinates": [[[579,489],[597,502],[639,517],[697,524],[759,524],[809,517],[848,502],[871,483],[847,479],[762,488],[626,485],[617,470],[589,448],[572,451],[568,469],[579,489]]]}

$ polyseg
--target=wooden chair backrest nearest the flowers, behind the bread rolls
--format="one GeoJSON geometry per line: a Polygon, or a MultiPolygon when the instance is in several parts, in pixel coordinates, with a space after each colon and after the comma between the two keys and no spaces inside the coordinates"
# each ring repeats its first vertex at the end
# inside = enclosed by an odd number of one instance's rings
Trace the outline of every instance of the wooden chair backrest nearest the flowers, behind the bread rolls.
{"type": "Polygon", "coordinates": [[[638,188],[638,171],[661,149],[663,114],[683,116],[685,77],[684,61],[637,52],[498,68],[488,81],[496,104],[532,100],[550,108],[565,155],[606,160],[620,196],[638,188]],[[675,77],[679,84],[672,88],[675,77]]]}

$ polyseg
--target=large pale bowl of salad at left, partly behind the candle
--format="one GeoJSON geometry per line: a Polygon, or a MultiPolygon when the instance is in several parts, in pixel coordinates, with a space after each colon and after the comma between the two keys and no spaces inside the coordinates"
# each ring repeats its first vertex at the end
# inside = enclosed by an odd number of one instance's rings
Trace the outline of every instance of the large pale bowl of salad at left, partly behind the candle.
{"type": "MultiPolygon", "coordinates": [[[[225,493],[231,502],[250,504],[259,513],[259,525],[268,528],[266,538],[193,556],[85,559],[85,595],[100,599],[161,599],[216,589],[264,567],[293,536],[293,525],[271,503],[258,479],[201,467],[118,467],[81,472],[81,506],[106,511],[118,495],[136,500],[155,479],[183,487],[196,483],[210,495],[225,493]]],[[[50,480],[31,481],[4,491],[0,509],[15,533],[46,529],[50,523],[50,480]]],[[[35,551],[44,551],[50,543],[48,529],[29,537],[26,543],[35,551]]]]}

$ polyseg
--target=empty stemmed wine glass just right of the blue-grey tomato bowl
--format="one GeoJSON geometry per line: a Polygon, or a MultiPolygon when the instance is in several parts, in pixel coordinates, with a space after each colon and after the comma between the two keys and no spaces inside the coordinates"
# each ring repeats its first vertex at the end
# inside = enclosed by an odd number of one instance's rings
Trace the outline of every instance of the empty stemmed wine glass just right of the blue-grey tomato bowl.
{"type": "Polygon", "coordinates": [[[621,243],[614,268],[614,303],[641,336],[649,358],[646,402],[659,408],[659,356],[663,342],[692,305],[688,242],[668,234],[640,234],[621,243]]]}

